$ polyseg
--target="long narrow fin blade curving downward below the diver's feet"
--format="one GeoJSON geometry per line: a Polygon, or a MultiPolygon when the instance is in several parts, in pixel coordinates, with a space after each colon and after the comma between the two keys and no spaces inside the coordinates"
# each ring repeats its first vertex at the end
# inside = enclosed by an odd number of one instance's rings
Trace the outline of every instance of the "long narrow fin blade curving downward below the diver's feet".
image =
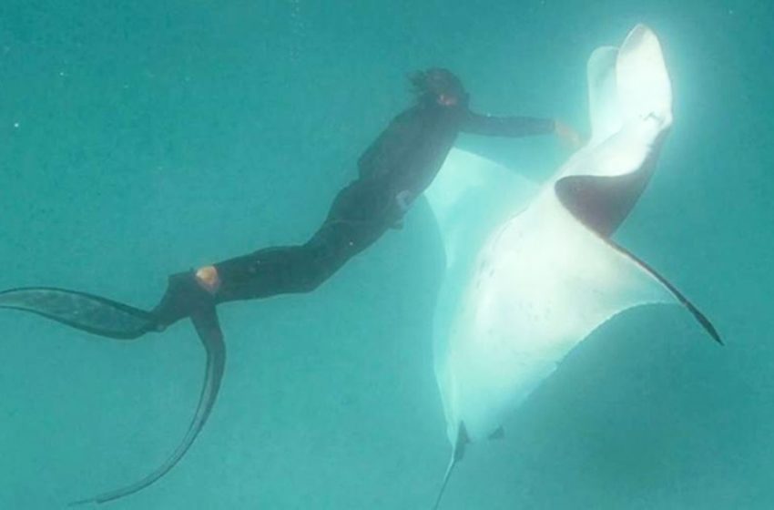
{"type": "Polygon", "coordinates": [[[204,423],[207,422],[209,413],[212,411],[212,406],[218,397],[220,381],[223,377],[223,369],[226,362],[226,345],[223,342],[223,333],[220,331],[215,307],[210,306],[195,311],[194,314],[191,315],[191,321],[193,321],[194,327],[196,328],[197,333],[199,333],[199,340],[201,340],[202,345],[204,345],[204,349],[207,352],[207,369],[201,395],[199,396],[199,406],[197,407],[196,414],[194,414],[190,426],[188,426],[188,433],[186,433],[182,442],[178,445],[178,448],[169,455],[164,464],[161,464],[156,471],[148,474],[148,476],[142,480],[114,491],[76,501],[70,505],[106,503],[134,494],[137,491],[148,487],[150,484],[157,482],[161,477],[167,474],[175,464],[178,464],[179,460],[183,458],[183,455],[188,452],[188,448],[193,444],[204,426],[204,423]]]}

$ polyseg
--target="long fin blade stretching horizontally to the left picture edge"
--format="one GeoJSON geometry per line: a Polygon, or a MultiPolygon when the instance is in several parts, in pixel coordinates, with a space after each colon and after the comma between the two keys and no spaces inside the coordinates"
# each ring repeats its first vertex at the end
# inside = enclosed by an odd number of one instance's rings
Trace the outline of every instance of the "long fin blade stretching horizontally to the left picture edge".
{"type": "Polygon", "coordinates": [[[121,340],[156,329],[155,316],[127,304],[52,287],[27,287],[0,292],[0,308],[21,310],[81,331],[121,340]]]}

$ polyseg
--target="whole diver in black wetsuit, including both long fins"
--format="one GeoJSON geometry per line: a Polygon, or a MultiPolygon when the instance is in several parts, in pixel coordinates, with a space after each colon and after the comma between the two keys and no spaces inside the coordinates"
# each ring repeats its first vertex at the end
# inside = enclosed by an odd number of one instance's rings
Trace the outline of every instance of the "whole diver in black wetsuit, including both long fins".
{"type": "Polygon", "coordinates": [[[495,137],[554,133],[569,144],[580,143],[572,128],[553,119],[474,113],[462,82],[446,69],[417,72],[411,84],[415,104],[395,117],[362,154],[358,178],[339,192],[321,228],[305,244],[258,250],[173,274],[153,311],[50,287],[0,292],[0,308],[30,311],[82,331],[125,340],[163,331],[189,317],[207,352],[197,411],[176,450],[138,482],[76,503],[104,503],[136,493],[157,482],[186,454],[207,421],[224,372],[226,349],[216,313],[219,303],[316,289],[384,232],[400,226],[403,215],[442,167],[460,132],[495,137]]]}

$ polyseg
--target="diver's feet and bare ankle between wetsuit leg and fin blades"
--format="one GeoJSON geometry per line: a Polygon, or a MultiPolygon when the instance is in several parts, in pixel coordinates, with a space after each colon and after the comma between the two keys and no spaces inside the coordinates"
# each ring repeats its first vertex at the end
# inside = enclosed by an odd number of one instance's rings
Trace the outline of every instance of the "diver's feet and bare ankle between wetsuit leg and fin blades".
{"type": "Polygon", "coordinates": [[[196,311],[215,306],[214,294],[218,291],[220,280],[215,268],[212,268],[214,274],[207,269],[178,272],[169,276],[167,291],[153,310],[158,331],[164,331],[196,311]]]}

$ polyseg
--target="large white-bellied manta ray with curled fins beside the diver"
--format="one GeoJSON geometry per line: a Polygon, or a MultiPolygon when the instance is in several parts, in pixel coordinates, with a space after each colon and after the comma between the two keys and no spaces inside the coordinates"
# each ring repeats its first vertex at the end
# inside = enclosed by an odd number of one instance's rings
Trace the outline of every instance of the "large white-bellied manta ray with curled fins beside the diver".
{"type": "Polygon", "coordinates": [[[657,270],[611,236],[634,208],[672,125],[657,36],[638,25],[587,64],[592,136],[543,186],[455,152],[426,196],[447,272],[433,355],[452,458],[502,435],[504,417],[601,324],[645,304],[684,306],[718,331],[657,270]]]}

